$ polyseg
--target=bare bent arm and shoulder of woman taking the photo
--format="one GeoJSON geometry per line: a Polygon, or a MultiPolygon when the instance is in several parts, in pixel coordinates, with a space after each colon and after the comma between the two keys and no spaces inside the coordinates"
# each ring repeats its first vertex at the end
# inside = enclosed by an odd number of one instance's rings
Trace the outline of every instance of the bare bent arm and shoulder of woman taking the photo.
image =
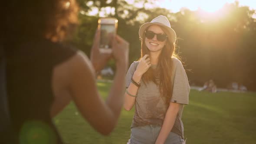
{"type": "MultiPolygon", "coordinates": [[[[95,36],[93,47],[95,49],[98,49],[98,40],[99,33],[95,36]]],[[[51,115],[62,110],[72,98],[82,116],[95,130],[104,135],[109,134],[115,128],[123,106],[128,46],[129,43],[119,36],[115,36],[112,40],[113,56],[117,68],[106,101],[103,101],[98,93],[93,66],[83,52],[77,52],[75,56],[59,65],[54,70],[53,76],[56,98],[51,115]]]]}

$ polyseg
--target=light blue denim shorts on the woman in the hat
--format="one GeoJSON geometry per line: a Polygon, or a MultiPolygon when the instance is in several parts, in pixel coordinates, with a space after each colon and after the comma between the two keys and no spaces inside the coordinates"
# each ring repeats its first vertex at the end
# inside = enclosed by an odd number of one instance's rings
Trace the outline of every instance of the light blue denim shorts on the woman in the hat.
{"type": "MultiPolygon", "coordinates": [[[[131,138],[127,144],[154,144],[161,130],[160,126],[145,125],[131,128],[131,138]]],[[[170,132],[164,144],[185,144],[178,134],[170,132]]]]}

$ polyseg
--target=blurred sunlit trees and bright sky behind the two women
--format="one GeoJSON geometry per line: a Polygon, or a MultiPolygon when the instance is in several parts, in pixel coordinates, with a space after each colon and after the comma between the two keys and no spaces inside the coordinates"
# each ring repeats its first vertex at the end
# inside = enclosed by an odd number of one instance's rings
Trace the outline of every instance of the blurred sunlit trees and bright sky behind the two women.
{"type": "MultiPolygon", "coordinates": [[[[190,85],[213,79],[218,88],[256,91],[255,0],[77,0],[81,7],[73,45],[88,56],[99,17],[118,19],[118,34],[130,43],[130,63],[140,56],[138,30],[158,15],[177,33],[190,85]]],[[[114,64],[111,64],[114,68],[114,64]]]]}

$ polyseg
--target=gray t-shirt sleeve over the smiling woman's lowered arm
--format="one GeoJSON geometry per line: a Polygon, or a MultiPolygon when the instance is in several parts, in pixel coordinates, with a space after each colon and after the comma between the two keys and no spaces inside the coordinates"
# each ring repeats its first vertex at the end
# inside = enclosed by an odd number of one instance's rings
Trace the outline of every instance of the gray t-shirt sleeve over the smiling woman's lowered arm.
{"type": "Polygon", "coordinates": [[[174,71],[174,82],[171,102],[188,105],[188,95],[190,86],[187,79],[187,74],[181,61],[175,59],[176,70],[174,71]]]}

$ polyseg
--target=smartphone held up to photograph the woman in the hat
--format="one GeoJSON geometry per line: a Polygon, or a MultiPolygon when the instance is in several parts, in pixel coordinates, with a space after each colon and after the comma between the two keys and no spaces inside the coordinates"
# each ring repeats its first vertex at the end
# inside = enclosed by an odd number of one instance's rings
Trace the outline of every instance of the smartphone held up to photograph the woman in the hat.
{"type": "Polygon", "coordinates": [[[113,17],[98,19],[98,29],[100,29],[100,45],[102,52],[112,52],[111,35],[115,36],[118,20],[113,17]]]}

